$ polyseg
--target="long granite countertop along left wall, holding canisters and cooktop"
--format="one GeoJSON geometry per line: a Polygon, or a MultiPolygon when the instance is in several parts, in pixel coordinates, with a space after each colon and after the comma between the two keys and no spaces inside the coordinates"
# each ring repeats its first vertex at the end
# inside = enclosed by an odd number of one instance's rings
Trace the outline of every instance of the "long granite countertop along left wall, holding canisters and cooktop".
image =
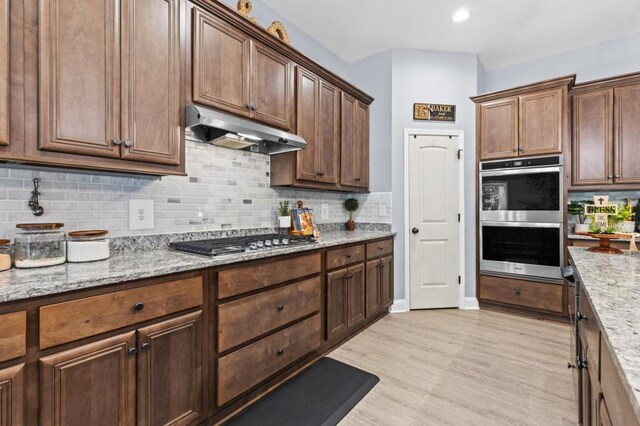
{"type": "Polygon", "coordinates": [[[391,237],[393,232],[354,231],[326,232],[315,244],[291,246],[206,257],[171,250],[151,250],[117,254],[107,260],[90,263],[65,263],[34,269],[11,269],[0,272],[0,303],[24,300],[85,288],[151,278],[212,266],[228,265],[289,253],[377,238],[391,237]]]}

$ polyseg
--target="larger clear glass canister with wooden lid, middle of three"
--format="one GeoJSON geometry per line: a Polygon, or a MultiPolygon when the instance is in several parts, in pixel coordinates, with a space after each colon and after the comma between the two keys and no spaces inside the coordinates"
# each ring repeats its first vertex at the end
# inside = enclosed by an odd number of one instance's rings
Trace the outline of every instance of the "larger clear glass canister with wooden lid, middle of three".
{"type": "Polygon", "coordinates": [[[21,223],[16,228],[14,257],[16,268],[38,268],[64,263],[67,260],[62,223],[21,223]]]}

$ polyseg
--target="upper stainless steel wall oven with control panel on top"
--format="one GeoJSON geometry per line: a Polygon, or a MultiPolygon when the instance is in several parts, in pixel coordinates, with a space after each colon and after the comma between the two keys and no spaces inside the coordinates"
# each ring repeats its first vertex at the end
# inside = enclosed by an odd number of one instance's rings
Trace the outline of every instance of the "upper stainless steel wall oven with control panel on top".
{"type": "Polygon", "coordinates": [[[480,163],[480,220],[562,222],[562,156],[480,163]]]}

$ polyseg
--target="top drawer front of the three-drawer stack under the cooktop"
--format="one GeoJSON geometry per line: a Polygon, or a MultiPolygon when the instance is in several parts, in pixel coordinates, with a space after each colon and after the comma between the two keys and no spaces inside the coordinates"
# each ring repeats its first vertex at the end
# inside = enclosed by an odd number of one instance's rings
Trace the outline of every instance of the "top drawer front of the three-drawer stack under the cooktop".
{"type": "Polygon", "coordinates": [[[261,262],[218,273],[218,299],[320,273],[320,253],[261,262]]]}

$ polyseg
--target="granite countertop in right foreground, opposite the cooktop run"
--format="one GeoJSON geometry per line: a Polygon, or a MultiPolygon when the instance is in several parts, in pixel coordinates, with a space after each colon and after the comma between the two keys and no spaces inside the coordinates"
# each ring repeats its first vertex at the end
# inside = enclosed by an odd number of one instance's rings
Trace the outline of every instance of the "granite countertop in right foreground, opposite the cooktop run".
{"type": "Polygon", "coordinates": [[[640,253],[610,255],[581,247],[569,247],[569,253],[640,418],[640,253]]]}

